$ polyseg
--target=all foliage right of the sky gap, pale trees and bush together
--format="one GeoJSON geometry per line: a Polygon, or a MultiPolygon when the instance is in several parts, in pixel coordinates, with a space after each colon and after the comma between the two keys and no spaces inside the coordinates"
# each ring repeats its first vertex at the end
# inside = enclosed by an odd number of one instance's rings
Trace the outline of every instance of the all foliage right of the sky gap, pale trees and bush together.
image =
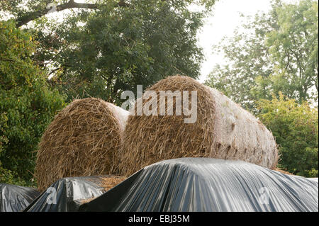
{"type": "Polygon", "coordinates": [[[214,47],[225,64],[214,67],[206,85],[272,130],[281,167],[318,177],[318,108],[305,102],[318,101],[318,1],[274,1],[272,11],[246,20],[214,47]]]}

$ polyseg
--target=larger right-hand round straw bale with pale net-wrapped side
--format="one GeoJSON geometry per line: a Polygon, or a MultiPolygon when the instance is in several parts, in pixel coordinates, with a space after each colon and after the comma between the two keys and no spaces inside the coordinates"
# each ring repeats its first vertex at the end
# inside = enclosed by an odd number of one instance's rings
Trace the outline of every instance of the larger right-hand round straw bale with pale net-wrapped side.
{"type": "Polygon", "coordinates": [[[191,91],[197,91],[197,120],[186,124],[184,118],[189,116],[176,115],[175,110],[172,116],[130,115],[121,150],[121,173],[130,175],[143,166],[179,157],[240,159],[269,169],[276,166],[278,152],[272,132],[216,89],[177,75],[147,90],[156,91],[158,108],[159,91],[189,91],[190,102],[191,91]]]}

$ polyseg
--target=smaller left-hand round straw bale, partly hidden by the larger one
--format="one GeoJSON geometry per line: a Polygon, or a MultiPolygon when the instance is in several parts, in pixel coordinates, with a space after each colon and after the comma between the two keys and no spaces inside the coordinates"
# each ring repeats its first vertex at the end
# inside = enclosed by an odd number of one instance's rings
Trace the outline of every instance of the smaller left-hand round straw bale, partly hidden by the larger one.
{"type": "Polygon", "coordinates": [[[116,174],[128,111],[99,98],[72,101],[41,138],[35,178],[43,191],[67,176],[116,174]]]}

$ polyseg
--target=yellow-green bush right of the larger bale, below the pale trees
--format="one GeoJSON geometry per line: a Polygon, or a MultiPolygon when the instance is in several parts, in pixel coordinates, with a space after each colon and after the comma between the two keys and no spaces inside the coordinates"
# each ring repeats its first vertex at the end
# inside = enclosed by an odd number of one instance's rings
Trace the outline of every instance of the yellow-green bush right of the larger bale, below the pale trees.
{"type": "Polygon", "coordinates": [[[279,166],[293,174],[318,177],[318,108],[279,98],[258,102],[259,118],[279,145],[279,166]]]}

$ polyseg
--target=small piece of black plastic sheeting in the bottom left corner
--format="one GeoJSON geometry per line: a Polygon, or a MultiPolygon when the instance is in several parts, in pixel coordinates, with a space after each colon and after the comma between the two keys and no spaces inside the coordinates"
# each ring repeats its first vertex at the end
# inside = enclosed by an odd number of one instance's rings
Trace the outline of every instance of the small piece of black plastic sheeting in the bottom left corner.
{"type": "Polygon", "coordinates": [[[39,195],[35,188],[0,183],[0,212],[20,212],[39,195]]]}

